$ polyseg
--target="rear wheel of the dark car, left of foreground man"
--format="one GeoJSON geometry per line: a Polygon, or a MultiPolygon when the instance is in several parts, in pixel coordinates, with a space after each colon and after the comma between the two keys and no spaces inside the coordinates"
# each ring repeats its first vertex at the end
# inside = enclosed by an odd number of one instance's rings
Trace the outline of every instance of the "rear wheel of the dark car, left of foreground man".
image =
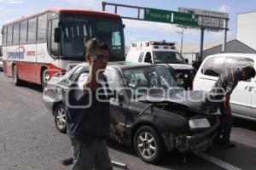
{"type": "Polygon", "coordinates": [[[55,126],[61,133],[67,132],[67,116],[66,116],[66,108],[64,105],[60,104],[55,107],[54,111],[55,116],[55,126]]]}

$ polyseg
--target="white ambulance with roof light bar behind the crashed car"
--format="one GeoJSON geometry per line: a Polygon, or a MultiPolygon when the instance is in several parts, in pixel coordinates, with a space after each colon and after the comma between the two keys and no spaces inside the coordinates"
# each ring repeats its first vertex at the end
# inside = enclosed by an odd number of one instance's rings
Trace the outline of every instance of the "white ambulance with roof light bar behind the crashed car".
{"type": "Polygon", "coordinates": [[[185,89],[192,88],[195,68],[177,52],[174,42],[132,42],[125,60],[128,63],[168,64],[176,73],[177,84],[185,89]]]}

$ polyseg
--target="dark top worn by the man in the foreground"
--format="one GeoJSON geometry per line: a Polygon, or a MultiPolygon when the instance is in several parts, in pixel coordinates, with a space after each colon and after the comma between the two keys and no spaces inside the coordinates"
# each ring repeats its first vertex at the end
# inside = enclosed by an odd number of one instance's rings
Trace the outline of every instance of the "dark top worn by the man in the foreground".
{"type": "MultiPolygon", "coordinates": [[[[81,76],[81,75],[80,75],[81,76]]],[[[107,78],[104,77],[106,88],[108,88],[107,78]]],[[[79,88],[77,85],[75,88],[79,88]]],[[[99,83],[99,88],[102,84],[99,83]]],[[[104,90],[99,91],[100,99],[109,99],[105,96],[104,90]]],[[[109,90],[108,90],[109,93],[109,90]]],[[[110,94],[110,93],[109,93],[110,94]]],[[[109,101],[101,102],[96,99],[96,92],[87,93],[79,89],[71,90],[69,95],[70,105],[91,105],[88,108],[67,107],[67,135],[77,139],[108,139],[109,135],[109,101]],[[82,96],[78,94],[83,94],[82,96]]]]}

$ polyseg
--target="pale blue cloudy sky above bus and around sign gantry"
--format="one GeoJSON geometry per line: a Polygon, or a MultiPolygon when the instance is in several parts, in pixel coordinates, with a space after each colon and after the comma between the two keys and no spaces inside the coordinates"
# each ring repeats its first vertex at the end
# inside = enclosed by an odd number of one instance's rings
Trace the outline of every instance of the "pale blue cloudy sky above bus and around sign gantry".
{"type": "MultiPolygon", "coordinates": [[[[165,10],[178,11],[179,7],[201,8],[229,13],[230,21],[228,40],[236,38],[236,18],[237,14],[256,11],[256,1],[253,0],[105,0],[108,3],[120,3],[145,8],[159,8],[165,10]]],[[[102,1],[99,0],[0,0],[0,27],[10,21],[19,19],[21,16],[34,14],[45,8],[84,8],[90,10],[102,10],[102,1]]],[[[107,11],[114,13],[114,9],[107,7],[107,11]]],[[[121,15],[135,16],[137,12],[132,9],[118,8],[121,15]]],[[[125,45],[137,41],[160,41],[181,42],[181,28],[177,25],[138,21],[123,20],[125,24],[125,45]]],[[[2,35],[0,36],[2,44],[2,35]]],[[[199,43],[201,31],[195,29],[185,29],[183,34],[183,44],[199,43]]],[[[205,31],[206,42],[221,42],[224,39],[223,31],[205,31]]]]}

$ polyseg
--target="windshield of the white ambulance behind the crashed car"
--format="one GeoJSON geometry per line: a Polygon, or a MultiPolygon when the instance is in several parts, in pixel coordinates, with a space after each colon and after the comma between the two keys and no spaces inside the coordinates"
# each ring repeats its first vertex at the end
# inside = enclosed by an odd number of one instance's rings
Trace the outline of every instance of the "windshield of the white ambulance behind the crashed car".
{"type": "Polygon", "coordinates": [[[154,63],[166,64],[186,64],[183,56],[172,51],[155,51],[153,52],[154,63]]]}

